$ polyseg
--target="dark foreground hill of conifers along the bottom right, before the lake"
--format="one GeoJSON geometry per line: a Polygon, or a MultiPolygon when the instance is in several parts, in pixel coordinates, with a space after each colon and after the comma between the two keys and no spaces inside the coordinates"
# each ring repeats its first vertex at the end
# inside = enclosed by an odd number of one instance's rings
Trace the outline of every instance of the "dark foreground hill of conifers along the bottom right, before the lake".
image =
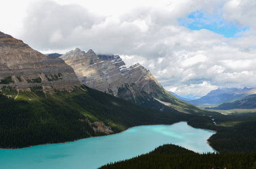
{"type": "MultiPolygon", "coordinates": [[[[175,169],[207,169],[227,167],[231,168],[251,168],[256,159],[251,153],[206,153],[198,154],[177,145],[163,145],[150,153],[127,159],[125,161],[109,163],[100,167],[101,169],[114,168],[175,168],[175,169]]],[[[255,165],[256,167],[256,165],[255,165]]]]}

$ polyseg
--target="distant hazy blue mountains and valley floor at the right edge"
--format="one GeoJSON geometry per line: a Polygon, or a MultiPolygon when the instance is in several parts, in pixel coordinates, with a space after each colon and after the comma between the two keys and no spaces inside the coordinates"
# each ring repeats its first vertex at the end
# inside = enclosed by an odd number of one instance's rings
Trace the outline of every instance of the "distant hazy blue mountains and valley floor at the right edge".
{"type": "Polygon", "coordinates": [[[222,114],[254,114],[255,88],[218,88],[206,96],[188,102],[222,114]]]}

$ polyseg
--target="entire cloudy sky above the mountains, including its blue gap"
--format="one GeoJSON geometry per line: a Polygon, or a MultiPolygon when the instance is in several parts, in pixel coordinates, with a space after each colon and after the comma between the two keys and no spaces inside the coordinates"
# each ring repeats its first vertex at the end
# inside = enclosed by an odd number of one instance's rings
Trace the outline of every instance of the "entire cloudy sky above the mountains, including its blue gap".
{"type": "Polygon", "coordinates": [[[120,55],[180,96],[256,87],[255,0],[8,0],[0,31],[43,53],[120,55]]]}

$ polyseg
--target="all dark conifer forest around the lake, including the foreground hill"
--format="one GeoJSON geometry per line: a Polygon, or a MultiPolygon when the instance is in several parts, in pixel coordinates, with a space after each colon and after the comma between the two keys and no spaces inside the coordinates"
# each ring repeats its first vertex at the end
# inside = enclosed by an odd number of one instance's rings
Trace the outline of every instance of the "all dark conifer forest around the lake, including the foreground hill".
{"type": "Polygon", "coordinates": [[[209,142],[219,152],[217,154],[197,154],[173,145],[164,145],[149,154],[105,167],[251,168],[255,161],[251,152],[256,147],[256,116],[250,114],[196,115],[177,110],[161,112],[83,86],[83,90],[77,88],[71,93],[56,90],[55,94],[32,90],[20,91],[18,95],[14,90],[2,90],[0,115],[1,148],[63,143],[104,135],[94,131],[92,124],[87,121],[101,121],[110,126],[113,133],[133,126],[173,124],[180,121],[187,121],[192,127],[216,131],[209,142]]]}

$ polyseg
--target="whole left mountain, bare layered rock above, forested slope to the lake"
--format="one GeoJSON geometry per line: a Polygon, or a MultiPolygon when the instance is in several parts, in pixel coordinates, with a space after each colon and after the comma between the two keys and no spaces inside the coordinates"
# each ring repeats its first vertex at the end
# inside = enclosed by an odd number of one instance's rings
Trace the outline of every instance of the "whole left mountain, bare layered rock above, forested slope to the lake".
{"type": "MultiPolygon", "coordinates": [[[[89,65],[94,65],[94,54],[89,54],[89,65]]],[[[0,80],[0,148],[64,143],[190,119],[214,125],[210,117],[175,109],[160,112],[93,90],[59,57],[41,54],[2,32],[0,80]]]]}

